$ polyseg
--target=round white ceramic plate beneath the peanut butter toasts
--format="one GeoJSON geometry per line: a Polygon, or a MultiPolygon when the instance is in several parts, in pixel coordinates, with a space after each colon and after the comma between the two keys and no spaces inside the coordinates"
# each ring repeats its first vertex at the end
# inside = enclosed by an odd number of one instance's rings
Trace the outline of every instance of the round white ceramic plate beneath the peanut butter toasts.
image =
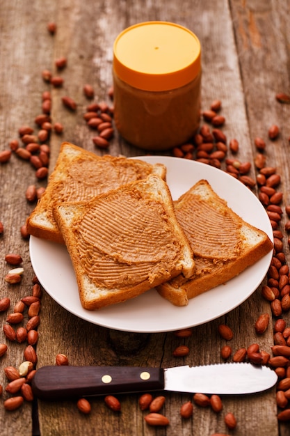
{"type": "MultiPolygon", "coordinates": [[[[224,171],[176,157],[138,156],[136,158],[166,165],[167,182],[174,200],[198,180],[202,178],[208,180],[216,193],[225,198],[234,212],[245,221],[264,230],[273,240],[271,224],[260,201],[248,187],[224,171]]],[[[268,271],[272,258],[272,253],[267,254],[238,277],[191,299],[188,306],[173,306],[156,290],[151,289],[125,303],[115,304],[99,311],[87,311],[79,301],[74,270],[65,247],[31,236],[30,255],[33,270],[43,288],[67,311],[93,324],[140,333],[169,332],[193,327],[228,313],[257,289],[268,271]]]]}

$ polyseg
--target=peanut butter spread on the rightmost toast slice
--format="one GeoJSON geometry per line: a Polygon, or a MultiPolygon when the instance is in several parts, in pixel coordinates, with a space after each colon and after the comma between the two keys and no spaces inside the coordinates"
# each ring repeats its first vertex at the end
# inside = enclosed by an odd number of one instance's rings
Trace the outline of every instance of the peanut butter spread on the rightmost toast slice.
{"type": "Polygon", "coordinates": [[[182,208],[177,206],[175,213],[194,255],[216,261],[239,256],[241,224],[226,208],[219,208],[197,195],[186,195],[182,208]]]}

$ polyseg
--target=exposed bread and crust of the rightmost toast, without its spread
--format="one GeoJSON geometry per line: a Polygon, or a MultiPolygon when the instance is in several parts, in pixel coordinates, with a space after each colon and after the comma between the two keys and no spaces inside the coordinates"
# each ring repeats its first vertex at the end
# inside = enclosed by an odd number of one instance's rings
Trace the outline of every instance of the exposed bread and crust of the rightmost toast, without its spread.
{"type": "MultiPolygon", "coordinates": [[[[268,238],[268,235],[236,215],[236,213],[227,206],[227,203],[213,191],[206,180],[200,180],[189,192],[195,194],[195,191],[200,188],[206,190],[209,201],[211,201],[216,208],[225,210],[232,216],[234,221],[240,223],[239,238],[241,239],[241,250],[236,258],[227,258],[225,254],[224,259],[220,258],[216,260],[215,258],[199,257],[195,253],[194,244],[192,244],[191,247],[195,254],[196,265],[196,273],[193,277],[184,279],[178,276],[176,279],[172,279],[167,283],[161,283],[161,285],[157,287],[159,294],[176,306],[186,306],[188,299],[197,297],[207,290],[216,288],[216,286],[233,279],[241,274],[247,267],[254,265],[273,249],[273,244],[268,238]],[[250,242],[250,238],[255,240],[255,242],[250,242]],[[206,264],[206,267],[204,267],[203,264],[206,264]]],[[[185,205],[186,198],[186,194],[180,197],[176,202],[176,207],[182,208],[185,205]]],[[[226,231],[227,229],[225,228],[225,232],[226,231]]]]}

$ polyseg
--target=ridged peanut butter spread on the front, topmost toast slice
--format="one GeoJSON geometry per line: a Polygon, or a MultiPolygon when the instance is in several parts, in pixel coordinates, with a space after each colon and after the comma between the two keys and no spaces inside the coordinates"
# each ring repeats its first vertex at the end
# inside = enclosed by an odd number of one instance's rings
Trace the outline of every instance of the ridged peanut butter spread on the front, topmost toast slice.
{"type": "Polygon", "coordinates": [[[137,191],[99,198],[73,230],[86,274],[106,288],[169,277],[181,249],[163,205],[137,191]]]}

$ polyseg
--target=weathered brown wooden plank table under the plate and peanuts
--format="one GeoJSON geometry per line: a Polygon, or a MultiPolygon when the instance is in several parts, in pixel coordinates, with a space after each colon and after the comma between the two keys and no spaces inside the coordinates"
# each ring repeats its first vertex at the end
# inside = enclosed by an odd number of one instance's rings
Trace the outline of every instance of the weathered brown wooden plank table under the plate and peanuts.
{"type": "MultiPolygon", "coordinates": [[[[254,159],[257,155],[255,137],[266,142],[264,155],[266,166],[277,169],[281,176],[277,191],[283,193],[284,207],[290,202],[289,115],[290,106],[275,99],[276,93],[289,92],[289,14],[287,0],[3,0],[0,5],[0,150],[9,150],[9,143],[19,139],[22,125],[31,125],[35,132],[35,117],[42,113],[42,92],[51,91],[51,119],[64,126],[63,134],[51,133],[49,146],[51,158],[49,170],[54,168],[61,142],[70,141],[98,155],[92,143],[95,135],[83,120],[88,100],[83,95],[83,85],[95,89],[95,101],[105,101],[112,85],[112,47],[115,37],[131,24],[146,20],[177,22],[194,31],[202,44],[202,109],[209,109],[211,102],[220,99],[222,114],[226,118],[222,130],[228,143],[232,138],[239,141],[241,162],[251,162],[248,176],[255,179],[254,159]],[[54,35],[47,24],[55,22],[54,35]],[[56,71],[54,62],[65,56],[67,66],[56,71]],[[42,79],[42,71],[50,70],[61,75],[64,84],[54,88],[42,79]],[[61,97],[70,95],[77,103],[76,111],[63,107],[61,97]],[[268,139],[271,125],[280,127],[275,141],[268,139]]],[[[20,141],[21,142],[21,141],[20,141]]],[[[126,156],[144,155],[125,143],[115,133],[106,153],[126,156]]],[[[171,151],[167,154],[172,154],[171,151]]],[[[229,151],[228,157],[232,154],[229,151]]],[[[222,164],[225,169],[225,162],[222,164]]],[[[0,164],[0,221],[4,231],[0,239],[1,291],[0,297],[9,297],[8,311],[1,313],[2,325],[6,325],[8,313],[26,295],[31,295],[34,272],[29,257],[29,242],[23,238],[20,228],[35,203],[26,200],[29,185],[45,187],[47,180],[38,180],[35,170],[23,159],[12,154],[9,162],[0,164]],[[10,266],[5,261],[8,253],[20,254],[24,274],[21,283],[11,285],[4,281],[10,266]]],[[[229,189],[230,186],[229,186],[229,189]]],[[[257,185],[253,189],[257,193],[257,185]]],[[[247,207],[247,205],[245,205],[247,207]]],[[[289,247],[283,213],[279,229],[283,232],[284,253],[289,260],[289,247]]],[[[266,282],[266,279],[264,283],[266,282]]],[[[230,341],[233,352],[252,343],[271,352],[273,345],[272,316],[268,329],[262,336],[255,334],[255,321],[261,313],[271,315],[271,306],[261,297],[261,286],[241,306],[216,320],[193,328],[187,339],[177,338],[173,332],[134,334],[117,332],[92,325],[65,311],[45,291],[41,299],[39,339],[35,346],[38,364],[54,364],[58,353],[65,354],[72,365],[134,365],[175,366],[181,364],[212,364],[222,361],[220,348],[225,341],[218,334],[218,325],[232,327],[234,338],[230,341]],[[177,345],[187,344],[189,354],[175,358],[172,351],[177,345]]],[[[289,313],[282,316],[290,326],[289,313]]],[[[24,311],[24,325],[27,311],[24,311]]],[[[19,327],[13,326],[15,329],[19,327]]],[[[209,407],[194,405],[193,417],[183,420],[179,416],[182,403],[192,400],[188,394],[166,394],[162,413],[170,419],[167,427],[147,426],[144,412],[138,407],[138,395],[120,398],[121,412],[112,412],[104,404],[104,398],[91,401],[92,411],[84,415],[75,402],[38,402],[39,429],[35,421],[36,401],[24,401],[22,407],[8,412],[3,402],[10,396],[5,387],[8,380],[3,371],[7,366],[18,368],[24,361],[27,343],[9,341],[0,332],[0,343],[8,350],[0,358],[1,433],[3,435],[195,435],[204,436],[226,433],[236,436],[289,435],[289,422],[278,423],[275,387],[263,394],[223,398],[223,411],[219,414],[209,407]],[[228,430],[224,415],[236,416],[235,430],[228,430]],[[40,432],[40,433],[39,433],[40,432]]]]}

